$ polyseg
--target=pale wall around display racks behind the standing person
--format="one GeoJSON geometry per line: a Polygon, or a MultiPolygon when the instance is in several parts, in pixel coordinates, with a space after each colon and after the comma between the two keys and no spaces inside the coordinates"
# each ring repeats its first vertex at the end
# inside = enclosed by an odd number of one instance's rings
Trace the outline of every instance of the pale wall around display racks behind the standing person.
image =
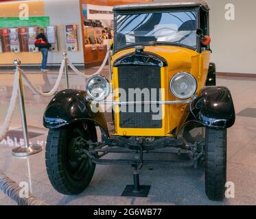
{"type": "MultiPolygon", "coordinates": [[[[49,52],[48,63],[60,64],[62,50],[67,50],[65,25],[78,25],[78,52],[69,52],[69,59],[74,64],[84,64],[81,33],[80,0],[44,0],[23,1],[30,8],[30,16],[49,16],[50,25],[58,26],[58,52],[49,52]]],[[[18,17],[21,1],[0,4],[0,17],[18,17]]],[[[0,53],[0,64],[12,64],[17,57],[23,64],[40,64],[41,53],[0,53]]]]}

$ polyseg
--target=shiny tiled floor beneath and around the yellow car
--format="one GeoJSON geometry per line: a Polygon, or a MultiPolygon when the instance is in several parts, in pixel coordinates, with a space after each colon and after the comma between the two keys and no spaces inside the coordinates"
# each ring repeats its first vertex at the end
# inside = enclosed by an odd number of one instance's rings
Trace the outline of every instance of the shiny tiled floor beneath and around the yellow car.
{"type": "MultiPolygon", "coordinates": [[[[89,73],[97,68],[89,69],[89,73]]],[[[107,68],[104,70],[107,75],[107,68]]],[[[56,80],[56,73],[27,74],[34,84],[47,91],[56,80]]],[[[13,75],[0,71],[0,127],[8,108],[13,75]]],[[[71,88],[84,89],[84,78],[71,74],[71,88]]],[[[242,78],[218,78],[218,85],[230,88],[236,112],[247,108],[256,109],[256,81],[242,78]]],[[[60,90],[65,88],[64,80],[60,90]]],[[[43,128],[43,112],[51,98],[33,94],[25,86],[27,123],[30,125],[30,140],[45,146],[47,129],[43,128]]],[[[17,104],[18,106],[18,104],[17,104]]],[[[52,188],[45,171],[45,153],[25,159],[12,157],[11,151],[22,139],[17,129],[21,128],[19,108],[16,107],[11,131],[0,143],[0,169],[17,183],[26,181],[34,196],[51,205],[255,205],[256,204],[256,118],[237,116],[235,125],[228,132],[228,181],[235,183],[235,198],[224,202],[212,202],[205,196],[202,168],[144,167],[141,184],[152,185],[147,198],[121,197],[126,184],[132,183],[130,166],[97,166],[89,188],[77,196],[64,196],[52,188]]],[[[116,155],[121,157],[121,155],[116,155]]],[[[15,205],[0,192],[0,205],[15,205]]]]}

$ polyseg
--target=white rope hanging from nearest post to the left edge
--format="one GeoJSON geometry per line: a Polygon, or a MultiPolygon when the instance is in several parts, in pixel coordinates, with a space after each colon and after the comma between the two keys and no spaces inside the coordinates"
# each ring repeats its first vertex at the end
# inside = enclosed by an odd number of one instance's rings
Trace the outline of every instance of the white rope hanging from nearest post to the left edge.
{"type": "Polygon", "coordinates": [[[17,96],[18,96],[18,86],[19,86],[19,71],[16,71],[14,73],[14,82],[13,82],[13,88],[12,88],[12,97],[10,99],[10,104],[8,107],[8,112],[5,116],[5,120],[3,122],[3,127],[0,131],[0,142],[5,138],[6,134],[9,131],[10,123],[12,121],[12,116],[15,110],[17,96]]]}

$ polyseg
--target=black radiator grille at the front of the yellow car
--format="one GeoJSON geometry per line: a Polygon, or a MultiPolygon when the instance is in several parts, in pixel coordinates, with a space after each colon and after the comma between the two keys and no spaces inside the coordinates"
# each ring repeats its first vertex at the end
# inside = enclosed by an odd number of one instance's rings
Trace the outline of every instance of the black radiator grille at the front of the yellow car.
{"type": "MultiPolygon", "coordinates": [[[[156,89],[156,99],[154,101],[160,100],[160,88],[161,88],[161,68],[157,66],[143,66],[143,65],[124,65],[118,68],[118,81],[119,88],[126,91],[126,98],[121,98],[120,101],[131,101],[128,99],[128,89],[148,88],[156,89]]],[[[136,96],[133,97],[134,101],[150,101],[150,99],[145,99],[141,95],[141,99],[136,100],[136,96]]],[[[151,99],[152,100],[152,99],[151,99]]],[[[157,109],[160,109],[159,105],[156,105],[157,109]]],[[[120,112],[120,124],[121,128],[141,128],[141,129],[156,129],[162,127],[162,120],[153,120],[153,115],[159,115],[159,112],[152,112],[152,107],[149,105],[141,105],[141,111],[136,112],[136,105],[122,106],[122,109],[126,108],[125,112],[120,112]],[[130,110],[132,107],[133,110],[130,110]],[[145,108],[148,109],[145,112],[145,108]],[[128,111],[130,110],[130,111],[128,111]]],[[[161,110],[160,110],[161,112],[161,110]]]]}

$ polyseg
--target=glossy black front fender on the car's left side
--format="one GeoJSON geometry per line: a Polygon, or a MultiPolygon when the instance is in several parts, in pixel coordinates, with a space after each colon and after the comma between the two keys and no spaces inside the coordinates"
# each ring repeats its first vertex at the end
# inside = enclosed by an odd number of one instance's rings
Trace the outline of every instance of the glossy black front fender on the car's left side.
{"type": "Polygon", "coordinates": [[[91,102],[86,100],[83,90],[62,90],[54,96],[45,110],[43,125],[47,129],[75,123],[80,120],[92,120],[108,133],[106,118],[102,112],[93,112],[91,102]]]}

